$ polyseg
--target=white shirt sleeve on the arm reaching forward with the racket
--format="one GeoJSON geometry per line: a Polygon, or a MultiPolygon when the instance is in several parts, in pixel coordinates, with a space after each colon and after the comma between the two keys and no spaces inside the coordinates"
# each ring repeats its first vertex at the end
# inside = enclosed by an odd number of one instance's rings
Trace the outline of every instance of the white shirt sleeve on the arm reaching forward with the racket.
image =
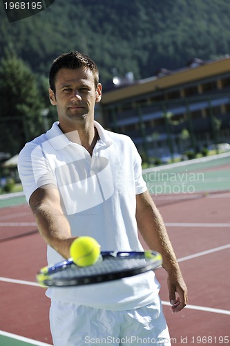
{"type": "Polygon", "coordinates": [[[41,186],[57,185],[55,175],[40,145],[28,143],[19,153],[18,171],[26,201],[41,186]]]}

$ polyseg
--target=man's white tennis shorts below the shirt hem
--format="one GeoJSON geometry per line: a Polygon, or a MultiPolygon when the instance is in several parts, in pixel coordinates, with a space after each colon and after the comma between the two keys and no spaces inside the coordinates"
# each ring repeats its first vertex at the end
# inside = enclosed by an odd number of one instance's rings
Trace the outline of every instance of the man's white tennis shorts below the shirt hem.
{"type": "Polygon", "coordinates": [[[171,345],[156,302],[127,311],[111,311],[52,300],[50,328],[55,346],[171,345]]]}

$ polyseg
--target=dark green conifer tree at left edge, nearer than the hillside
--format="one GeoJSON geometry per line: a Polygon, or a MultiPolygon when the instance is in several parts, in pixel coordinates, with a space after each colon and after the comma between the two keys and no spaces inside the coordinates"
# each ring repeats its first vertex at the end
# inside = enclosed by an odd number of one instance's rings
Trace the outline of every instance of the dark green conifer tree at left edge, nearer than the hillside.
{"type": "Polygon", "coordinates": [[[32,71],[9,50],[0,64],[0,94],[0,151],[13,155],[44,130],[44,104],[32,71]]]}

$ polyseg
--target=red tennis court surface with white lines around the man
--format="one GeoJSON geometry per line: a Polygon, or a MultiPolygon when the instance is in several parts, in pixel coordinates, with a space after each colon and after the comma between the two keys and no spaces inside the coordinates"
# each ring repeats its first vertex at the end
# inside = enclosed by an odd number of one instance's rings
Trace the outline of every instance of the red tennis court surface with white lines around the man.
{"type": "MultiPolygon", "coordinates": [[[[229,198],[230,192],[153,197],[189,290],[188,307],[178,314],[171,313],[166,273],[162,268],[157,270],[173,345],[229,344],[229,198]]],[[[20,212],[19,207],[14,215],[20,212]]],[[[31,218],[28,210],[23,221],[18,215],[12,216],[12,222],[32,223],[31,218]]],[[[37,270],[46,264],[44,241],[38,233],[13,237],[0,243],[0,251],[0,329],[52,345],[49,300],[45,289],[35,283],[37,270]]]]}

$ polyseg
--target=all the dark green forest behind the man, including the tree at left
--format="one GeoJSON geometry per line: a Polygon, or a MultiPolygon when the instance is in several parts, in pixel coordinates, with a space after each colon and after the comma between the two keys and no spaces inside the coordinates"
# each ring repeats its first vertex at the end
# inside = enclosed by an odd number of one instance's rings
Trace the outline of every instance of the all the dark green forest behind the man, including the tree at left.
{"type": "Polygon", "coordinates": [[[9,23],[1,3],[0,152],[17,154],[43,132],[44,111],[55,118],[48,71],[59,54],[89,55],[106,90],[113,75],[139,80],[228,54],[229,18],[229,0],[55,0],[9,23]]]}

